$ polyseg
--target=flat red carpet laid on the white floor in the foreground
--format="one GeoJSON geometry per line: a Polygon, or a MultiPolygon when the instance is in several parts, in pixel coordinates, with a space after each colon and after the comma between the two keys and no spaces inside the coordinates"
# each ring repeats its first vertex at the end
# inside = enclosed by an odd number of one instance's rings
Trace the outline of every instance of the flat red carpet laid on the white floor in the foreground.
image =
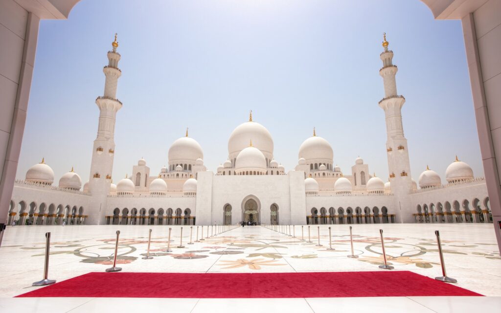
{"type": "Polygon", "coordinates": [[[18,297],[296,298],[481,295],[410,271],[92,272],[18,297]]]}

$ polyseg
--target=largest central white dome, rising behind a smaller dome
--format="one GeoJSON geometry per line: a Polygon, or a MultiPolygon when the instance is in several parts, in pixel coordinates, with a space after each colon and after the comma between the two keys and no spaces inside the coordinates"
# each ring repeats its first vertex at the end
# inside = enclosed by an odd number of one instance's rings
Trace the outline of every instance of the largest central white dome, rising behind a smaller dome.
{"type": "Polygon", "coordinates": [[[252,140],[254,147],[261,150],[268,159],[273,157],[273,139],[268,129],[256,122],[245,122],[238,125],[229,136],[229,158],[236,157],[240,151],[247,148],[249,140],[252,140]]]}

